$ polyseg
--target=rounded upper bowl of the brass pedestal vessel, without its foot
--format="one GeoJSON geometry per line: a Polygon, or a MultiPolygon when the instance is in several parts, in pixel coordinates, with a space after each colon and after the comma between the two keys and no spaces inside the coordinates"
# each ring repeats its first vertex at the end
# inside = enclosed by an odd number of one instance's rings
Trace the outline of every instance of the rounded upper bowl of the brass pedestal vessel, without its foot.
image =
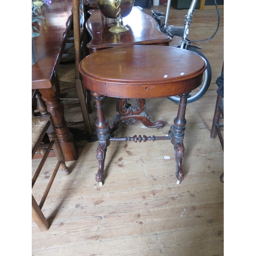
{"type": "MultiPolygon", "coordinates": [[[[116,18],[117,0],[97,0],[97,5],[106,18],[116,18]]],[[[120,15],[126,17],[130,14],[134,6],[134,0],[120,0],[120,15]]]]}

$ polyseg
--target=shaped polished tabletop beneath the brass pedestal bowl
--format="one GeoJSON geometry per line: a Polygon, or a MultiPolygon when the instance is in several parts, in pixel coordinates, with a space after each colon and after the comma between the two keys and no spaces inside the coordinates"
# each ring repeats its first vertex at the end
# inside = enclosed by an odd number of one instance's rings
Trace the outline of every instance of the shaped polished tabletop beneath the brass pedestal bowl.
{"type": "Polygon", "coordinates": [[[139,7],[133,7],[131,13],[122,18],[123,25],[129,28],[124,33],[112,33],[111,27],[115,22],[106,23],[106,18],[99,10],[88,11],[91,16],[86,22],[86,28],[91,41],[87,44],[91,53],[105,48],[128,45],[165,45],[168,46],[172,38],[160,32],[156,20],[145,14],[139,7]]]}

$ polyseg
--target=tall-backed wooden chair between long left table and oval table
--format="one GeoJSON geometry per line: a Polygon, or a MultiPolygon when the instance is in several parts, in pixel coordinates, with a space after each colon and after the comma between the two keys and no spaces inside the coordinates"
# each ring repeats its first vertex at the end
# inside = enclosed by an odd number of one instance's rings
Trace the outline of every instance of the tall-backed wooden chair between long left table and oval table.
{"type": "Polygon", "coordinates": [[[73,106],[80,106],[83,121],[69,122],[68,126],[84,123],[86,127],[87,138],[92,137],[92,129],[89,119],[89,113],[92,113],[90,93],[83,87],[78,65],[81,58],[85,57],[87,53],[86,42],[87,35],[84,29],[84,3],[82,0],[73,0],[73,30],[71,30],[69,38],[66,43],[64,54],[62,55],[60,65],[57,69],[59,78],[59,86],[61,92],[60,100],[72,101],[71,104],[65,104],[65,108],[73,106]],[[72,56],[74,58],[72,58],[72,56]],[[68,97],[67,91],[75,88],[77,97],[68,97]],[[66,96],[65,96],[66,94],[66,96]],[[78,103],[74,103],[78,101],[78,103]]]}

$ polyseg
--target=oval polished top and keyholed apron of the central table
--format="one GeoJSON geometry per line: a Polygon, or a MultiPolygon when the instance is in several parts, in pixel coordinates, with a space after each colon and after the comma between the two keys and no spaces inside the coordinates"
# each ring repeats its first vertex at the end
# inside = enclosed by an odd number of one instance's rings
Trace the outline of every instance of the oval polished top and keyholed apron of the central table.
{"type": "Polygon", "coordinates": [[[196,89],[206,69],[194,52],[166,46],[130,46],[105,49],[79,65],[91,92],[109,97],[158,98],[196,89]]]}

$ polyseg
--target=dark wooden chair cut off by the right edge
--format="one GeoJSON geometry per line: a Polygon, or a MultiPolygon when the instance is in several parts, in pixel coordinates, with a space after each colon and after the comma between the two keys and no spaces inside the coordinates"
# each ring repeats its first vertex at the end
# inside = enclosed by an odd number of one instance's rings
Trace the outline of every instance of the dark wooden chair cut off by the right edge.
{"type": "MultiPolygon", "coordinates": [[[[215,139],[218,135],[222,150],[224,151],[224,139],[221,133],[221,128],[224,127],[224,123],[220,123],[221,119],[224,119],[224,72],[216,80],[219,86],[217,90],[217,100],[215,105],[214,119],[212,121],[210,137],[215,139]]],[[[220,180],[224,182],[224,172],[220,176],[220,180]]]]}

